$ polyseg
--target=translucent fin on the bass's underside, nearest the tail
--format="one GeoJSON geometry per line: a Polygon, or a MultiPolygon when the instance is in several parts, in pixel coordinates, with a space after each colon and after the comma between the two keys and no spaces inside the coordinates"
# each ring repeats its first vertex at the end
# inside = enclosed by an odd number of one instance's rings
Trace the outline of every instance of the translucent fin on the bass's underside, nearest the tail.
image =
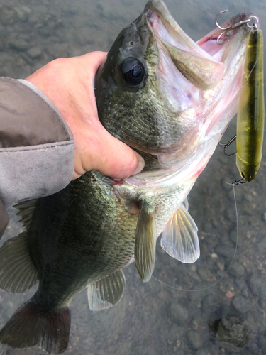
{"type": "Polygon", "coordinates": [[[118,270],[88,286],[90,310],[106,310],[118,303],[126,285],[123,271],[118,270]]]}

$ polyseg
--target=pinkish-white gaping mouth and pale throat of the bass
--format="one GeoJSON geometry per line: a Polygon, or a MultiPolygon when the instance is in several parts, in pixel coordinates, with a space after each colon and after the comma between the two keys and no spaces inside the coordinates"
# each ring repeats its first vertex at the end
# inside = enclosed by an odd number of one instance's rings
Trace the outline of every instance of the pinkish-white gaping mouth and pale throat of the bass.
{"type": "MultiPolygon", "coordinates": [[[[149,1],[144,15],[157,43],[160,99],[180,126],[180,135],[172,146],[146,151],[155,153],[162,168],[181,171],[190,166],[194,167],[191,174],[199,175],[237,113],[251,28],[243,23],[223,33],[216,27],[195,43],[162,1],[149,1]]],[[[251,16],[253,13],[240,13],[221,23],[221,27],[228,28],[251,16]]],[[[162,178],[165,173],[153,172],[150,179],[154,181],[155,175],[162,178]]],[[[147,180],[148,175],[140,174],[140,178],[147,180]]],[[[138,185],[138,177],[131,180],[132,185],[138,185]]]]}

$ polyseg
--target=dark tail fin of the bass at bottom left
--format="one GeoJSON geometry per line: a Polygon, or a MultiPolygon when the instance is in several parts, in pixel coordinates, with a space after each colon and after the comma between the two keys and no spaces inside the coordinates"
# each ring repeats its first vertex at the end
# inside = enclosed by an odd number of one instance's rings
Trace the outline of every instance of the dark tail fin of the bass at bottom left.
{"type": "Polygon", "coordinates": [[[48,354],[61,354],[67,349],[70,322],[68,307],[44,312],[28,300],[1,329],[0,342],[12,348],[38,346],[48,354]]]}

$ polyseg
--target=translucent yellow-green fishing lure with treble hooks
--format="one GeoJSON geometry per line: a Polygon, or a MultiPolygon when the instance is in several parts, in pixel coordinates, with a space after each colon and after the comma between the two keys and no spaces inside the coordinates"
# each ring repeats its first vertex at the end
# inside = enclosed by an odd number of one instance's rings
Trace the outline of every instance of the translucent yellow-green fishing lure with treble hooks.
{"type": "MultiPolygon", "coordinates": [[[[222,11],[221,13],[224,13],[222,11]]],[[[218,13],[219,15],[220,13],[218,13]]],[[[216,26],[221,28],[217,23],[216,26]]],[[[258,18],[250,16],[247,21],[242,21],[228,28],[221,28],[223,33],[230,31],[236,26],[242,26],[247,23],[247,26],[253,28],[250,31],[248,38],[248,46],[245,55],[245,65],[243,71],[242,92],[240,94],[240,102],[237,115],[236,129],[236,165],[242,179],[245,182],[250,182],[255,179],[257,170],[260,168],[262,159],[262,143],[264,131],[264,90],[263,90],[263,37],[262,30],[257,28],[258,18]],[[249,22],[254,19],[255,23],[250,26],[249,22]]],[[[217,39],[217,44],[221,36],[217,39]]],[[[234,137],[235,138],[235,137],[234,137]]],[[[225,150],[228,145],[234,140],[231,139],[225,145],[225,150]]],[[[238,181],[242,183],[242,180],[238,181]]]]}

